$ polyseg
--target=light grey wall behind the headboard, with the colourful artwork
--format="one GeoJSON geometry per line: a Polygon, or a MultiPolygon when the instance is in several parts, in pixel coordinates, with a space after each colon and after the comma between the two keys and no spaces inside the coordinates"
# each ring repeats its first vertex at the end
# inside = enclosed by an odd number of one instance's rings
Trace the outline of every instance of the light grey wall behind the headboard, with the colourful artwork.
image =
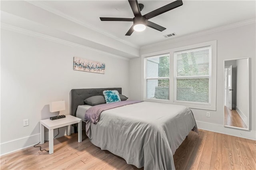
{"type": "Polygon", "coordinates": [[[122,87],[129,97],[128,77],[128,60],[1,29],[0,153],[40,141],[40,120],[54,116],[50,101],[65,100],[60,114],[68,115],[71,89],[122,87]],[[73,70],[74,56],[104,62],[105,74],[73,70]],[[29,126],[23,127],[23,119],[29,126]]]}

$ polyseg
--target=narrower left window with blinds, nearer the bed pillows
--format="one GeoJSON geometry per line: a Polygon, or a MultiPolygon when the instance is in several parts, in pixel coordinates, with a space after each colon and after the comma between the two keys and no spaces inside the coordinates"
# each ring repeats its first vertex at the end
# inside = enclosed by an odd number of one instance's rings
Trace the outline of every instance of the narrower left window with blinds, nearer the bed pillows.
{"type": "Polygon", "coordinates": [[[145,65],[146,99],[169,100],[169,54],[147,57],[145,65]]]}

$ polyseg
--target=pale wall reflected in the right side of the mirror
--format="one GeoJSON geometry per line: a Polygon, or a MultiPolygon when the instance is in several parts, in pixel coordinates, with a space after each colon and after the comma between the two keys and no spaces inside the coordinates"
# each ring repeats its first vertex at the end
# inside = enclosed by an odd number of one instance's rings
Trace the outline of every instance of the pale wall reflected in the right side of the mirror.
{"type": "Polygon", "coordinates": [[[247,60],[238,59],[237,63],[237,79],[236,79],[236,109],[243,118],[244,122],[247,123],[248,117],[248,74],[247,71],[247,60]]]}

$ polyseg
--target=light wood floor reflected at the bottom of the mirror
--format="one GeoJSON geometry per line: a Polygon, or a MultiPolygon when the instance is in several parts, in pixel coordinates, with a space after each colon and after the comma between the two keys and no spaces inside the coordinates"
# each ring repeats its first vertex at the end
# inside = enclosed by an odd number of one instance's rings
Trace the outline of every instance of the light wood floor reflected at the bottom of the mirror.
{"type": "Polygon", "coordinates": [[[243,119],[239,116],[236,110],[230,110],[226,106],[224,106],[224,114],[225,114],[225,125],[232,126],[232,127],[247,128],[243,119]]]}

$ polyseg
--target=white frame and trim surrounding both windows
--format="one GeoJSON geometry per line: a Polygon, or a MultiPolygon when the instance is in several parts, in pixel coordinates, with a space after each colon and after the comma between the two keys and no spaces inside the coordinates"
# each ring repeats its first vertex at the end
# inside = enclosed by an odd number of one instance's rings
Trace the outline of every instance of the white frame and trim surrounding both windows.
{"type": "MultiPolygon", "coordinates": [[[[172,49],[162,50],[162,51],[156,51],[152,53],[142,54],[141,55],[141,63],[142,63],[142,99],[144,101],[155,101],[160,103],[170,103],[170,104],[177,104],[177,105],[185,105],[192,109],[202,109],[202,110],[210,110],[210,111],[216,111],[216,78],[217,78],[217,40],[209,41],[209,42],[203,42],[203,43],[196,43],[192,45],[186,45],[182,47],[176,47],[172,49]],[[211,69],[209,70],[211,72],[211,97],[210,97],[210,105],[198,105],[194,103],[184,103],[184,102],[177,102],[175,101],[175,86],[174,86],[174,52],[178,51],[185,51],[189,49],[195,49],[200,47],[206,47],[211,46],[212,47],[212,53],[211,53],[211,69]],[[167,54],[170,55],[170,74],[169,74],[169,100],[162,100],[162,99],[146,99],[146,57],[152,57],[156,55],[162,55],[167,54]]],[[[176,66],[175,66],[176,67],[176,66]]]]}

